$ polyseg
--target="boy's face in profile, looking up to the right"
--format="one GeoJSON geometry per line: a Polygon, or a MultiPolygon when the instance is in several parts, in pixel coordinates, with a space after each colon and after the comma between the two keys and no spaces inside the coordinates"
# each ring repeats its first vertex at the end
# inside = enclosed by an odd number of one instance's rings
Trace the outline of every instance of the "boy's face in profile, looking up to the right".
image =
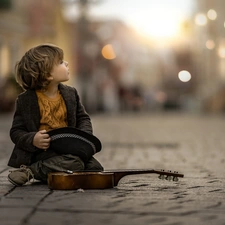
{"type": "Polygon", "coordinates": [[[68,65],[66,61],[55,64],[51,72],[51,80],[55,83],[68,81],[70,78],[68,65]]]}

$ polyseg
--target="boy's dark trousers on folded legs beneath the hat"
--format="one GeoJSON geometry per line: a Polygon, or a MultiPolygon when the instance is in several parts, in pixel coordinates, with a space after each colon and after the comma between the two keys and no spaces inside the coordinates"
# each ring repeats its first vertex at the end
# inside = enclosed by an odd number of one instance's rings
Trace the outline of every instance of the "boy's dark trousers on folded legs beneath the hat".
{"type": "Polygon", "coordinates": [[[45,160],[39,160],[30,167],[34,178],[47,182],[48,173],[76,171],[103,171],[102,165],[92,157],[86,164],[78,157],[71,154],[56,155],[45,160]]]}

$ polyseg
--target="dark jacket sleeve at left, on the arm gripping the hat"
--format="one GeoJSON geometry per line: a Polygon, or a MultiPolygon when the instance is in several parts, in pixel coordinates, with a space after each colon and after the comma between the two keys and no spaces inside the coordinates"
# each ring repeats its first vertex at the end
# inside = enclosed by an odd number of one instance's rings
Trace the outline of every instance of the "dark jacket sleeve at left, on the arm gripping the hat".
{"type": "Polygon", "coordinates": [[[33,145],[33,138],[36,132],[29,132],[26,128],[24,118],[23,107],[18,98],[16,100],[16,109],[13,117],[12,127],[10,129],[10,137],[12,142],[17,148],[23,149],[29,152],[37,151],[37,148],[33,145]]]}

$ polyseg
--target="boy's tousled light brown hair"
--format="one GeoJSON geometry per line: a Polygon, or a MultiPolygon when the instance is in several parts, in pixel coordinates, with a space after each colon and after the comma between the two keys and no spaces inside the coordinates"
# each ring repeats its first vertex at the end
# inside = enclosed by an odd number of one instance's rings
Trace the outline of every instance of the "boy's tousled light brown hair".
{"type": "Polygon", "coordinates": [[[45,89],[55,64],[63,60],[63,50],[52,44],[31,48],[16,63],[16,81],[24,90],[45,89]]]}

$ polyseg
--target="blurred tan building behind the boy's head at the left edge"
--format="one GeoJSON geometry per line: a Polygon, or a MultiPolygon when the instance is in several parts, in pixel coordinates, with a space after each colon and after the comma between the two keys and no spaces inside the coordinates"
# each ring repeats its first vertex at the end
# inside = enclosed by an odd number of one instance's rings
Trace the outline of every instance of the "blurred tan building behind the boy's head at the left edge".
{"type": "MultiPolygon", "coordinates": [[[[0,0],[0,111],[13,108],[15,96],[21,91],[13,79],[14,67],[28,49],[54,43],[71,60],[72,35],[69,29],[64,32],[67,24],[60,10],[59,0],[0,0]]],[[[72,65],[70,70],[73,73],[72,65]]]]}

